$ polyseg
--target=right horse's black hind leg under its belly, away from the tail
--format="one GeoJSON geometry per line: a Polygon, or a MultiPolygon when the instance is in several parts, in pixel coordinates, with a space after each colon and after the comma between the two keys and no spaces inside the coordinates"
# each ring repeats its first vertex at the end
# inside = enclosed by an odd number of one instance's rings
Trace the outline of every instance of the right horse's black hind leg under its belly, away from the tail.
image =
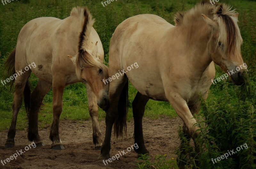
{"type": "Polygon", "coordinates": [[[132,113],[134,119],[134,144],[137,144],[138,148],[134,148],[135,152],[140,154],[148,154],[149,151],[145,147],[143,129],[142,129],[142,117],[145,112],[146,104],[148,103],[149,98],[141,95],[137,92],[133,102],[132,102],[132,113]]]}

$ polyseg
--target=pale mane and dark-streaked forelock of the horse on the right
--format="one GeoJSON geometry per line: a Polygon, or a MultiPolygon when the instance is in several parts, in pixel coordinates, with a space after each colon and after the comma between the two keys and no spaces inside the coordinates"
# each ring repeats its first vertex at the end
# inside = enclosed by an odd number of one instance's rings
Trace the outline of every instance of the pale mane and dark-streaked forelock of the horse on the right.
{"type": "Polygon", "coordinates": [[[234,23],[235,18],[232,17],[236,11],[227,4],[212,5],[209,1],[203,1],[188,11],[177,13],[174,17],[175,26],[191,25],[195,21],[202,21],[201,14],[218,24],[220,32],[218,42],[221,42],[223,50],[227,51],[229,56],[241,52],[240,45],[243,39],[238,26],[234,23]]]}

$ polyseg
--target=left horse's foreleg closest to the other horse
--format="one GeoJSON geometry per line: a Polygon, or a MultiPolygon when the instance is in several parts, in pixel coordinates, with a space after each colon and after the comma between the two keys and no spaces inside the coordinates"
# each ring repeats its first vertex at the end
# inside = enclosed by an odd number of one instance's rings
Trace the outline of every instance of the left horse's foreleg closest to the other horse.
{"type": "Polygon", "coordinates": [[[100,150],[102,145],[102,138],[100,132],[100,126],[98,122],[98,105],[96,102],[96,97],[92,92],[92,88],[89,84],[86,84],[87,98],[88,98],[88,108],[89,114],[92,119],[92,139],[94,144],[94,150],[100,150]]]}

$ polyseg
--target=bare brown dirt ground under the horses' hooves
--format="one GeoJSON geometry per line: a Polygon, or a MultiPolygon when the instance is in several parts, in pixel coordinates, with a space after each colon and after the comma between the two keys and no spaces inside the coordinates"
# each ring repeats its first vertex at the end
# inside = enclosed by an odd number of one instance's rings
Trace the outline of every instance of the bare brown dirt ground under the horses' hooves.
{"type": "MultiPolygon", "coordinates": [[[[159,119],[143,119],[143,133],[146,147],[150,156],[157,154],[167,154],[167,157],[175,157],[174,150],[180,144],[178,139],[178,128],[182,125],[180,118],[170,119],[162,116],[159,119]]],[[[102,138],[105,136],[105,122],[100,122],[102,138]]],[[[60,139],[65,147],[64,150],[52,150],[49,139],[50,126],[39,131],[44,140],[44,147],[31,148],[24,152],[17,159],[13,159],[7,165],[0,163],[0,168],[4,169],[136,169],[137,155],[132,150],[120,157],[119,160],[112,161],[104,165],[102,160],[97,160],[100,151],[93,150],[91,120],[78,123],[70,120],[60,121],[60,139]]],[[[26,131],[16,131],[15,146],[4,149],[4,142],[7,138],[7,130],[0,132],[0,160],[5,160],[16,150],[23,150],[31,142],[27,139],[26,131]]],[[[127,137],[124,139],[111,139],[110,156],[122,150],[126,150],[133,145],[133,121],[127,124],[127,137]]]]}

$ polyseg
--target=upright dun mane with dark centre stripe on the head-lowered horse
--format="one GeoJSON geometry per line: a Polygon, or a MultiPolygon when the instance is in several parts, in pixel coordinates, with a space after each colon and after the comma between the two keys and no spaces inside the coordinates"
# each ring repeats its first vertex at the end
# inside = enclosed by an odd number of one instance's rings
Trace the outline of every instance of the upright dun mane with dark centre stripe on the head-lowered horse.
{"type": "Polygon", "coordinates": [[[92,19],[92,15],[87,7],[74,7],[70,13],[70,16],[76,16],[81,22],[83,22],[83,28],[79,36],[78,52],[73,59],[76,67],[76,75],[81,80],[81,72],[84,67],[99,67],[102,68],[102,62],[99,58],[94,58],[87,51],[90,46],[90,33],[95,19],[92,19]]]}

